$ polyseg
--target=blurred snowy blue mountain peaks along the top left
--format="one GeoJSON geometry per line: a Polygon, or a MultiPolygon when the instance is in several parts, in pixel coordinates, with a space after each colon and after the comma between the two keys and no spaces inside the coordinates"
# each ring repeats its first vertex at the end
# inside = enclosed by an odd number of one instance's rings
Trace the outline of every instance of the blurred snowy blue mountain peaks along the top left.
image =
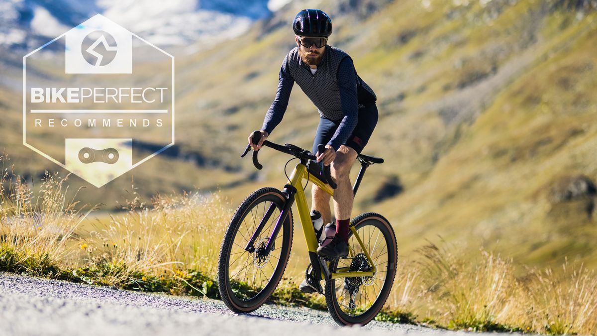
{"type": "MultiPolygon", "coordinates": [[[[0,46],[35,47],[96,13],[156,45],[211,44],[239,36],[269,15],[267,1],[0,0],[0,46]]],[[[281,6],[289,0],[272,1],[281,6]]]]}

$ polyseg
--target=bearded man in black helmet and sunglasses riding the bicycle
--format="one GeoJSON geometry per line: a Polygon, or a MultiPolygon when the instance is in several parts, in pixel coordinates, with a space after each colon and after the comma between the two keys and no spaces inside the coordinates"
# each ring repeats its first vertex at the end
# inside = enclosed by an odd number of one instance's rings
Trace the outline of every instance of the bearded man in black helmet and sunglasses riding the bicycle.
{"type": "MultiPolygon", "coordinates": [[[[313,153],[317,153],[318,162],[323,161],[325,166],[331,164],[331,175],[338,186],[334,191],[336,236],[328,245],[320,246],[317,253],[329,259],[346,257],[353,205],[349,174],[377,124],[377,97],[356,74],[350,56],[327,44],[332,23],[324,11],[300,11],[294,17],[293,30],[297,47],[282,62],[278,91],[263,121],[261,139],[254,145],[251,133],[248,142],[254,150],[261,148],[282,120],[296,82],[319,111],[313,153]],[[317,150],[319,143],[326,144],[324,152],[317,150]]],[[[324,223],[331,222],[330,195],[315,184],[312,209],[321,213],[324,223]]],[[[319,283],[307,280],[300,284],[301,291],[315,292],[321,288],[319,283]]]]}

